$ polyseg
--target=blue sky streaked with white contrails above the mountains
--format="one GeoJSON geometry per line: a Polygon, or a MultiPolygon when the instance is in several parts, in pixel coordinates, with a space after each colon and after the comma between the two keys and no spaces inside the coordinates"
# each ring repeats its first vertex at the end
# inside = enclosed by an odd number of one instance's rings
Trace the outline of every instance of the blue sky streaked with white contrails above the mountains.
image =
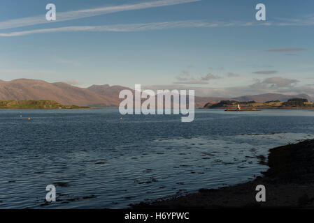
{"type": "Polygon", "coordinates": [[[314,96],[313,36],[312,0],[6,0],[0,79],[314,96]]]}

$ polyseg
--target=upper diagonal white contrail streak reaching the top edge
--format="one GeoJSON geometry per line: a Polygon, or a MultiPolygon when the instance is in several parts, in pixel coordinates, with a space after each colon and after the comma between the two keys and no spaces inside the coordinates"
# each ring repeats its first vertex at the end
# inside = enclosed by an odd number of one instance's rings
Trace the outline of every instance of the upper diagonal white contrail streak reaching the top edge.
{"type": "MultiPolygon", "coordinates": [[[[125,4],[120,6],[105,6],[99,8],[90,8],[83,10],[72,10],[67,12],[57,12],[57,20],[52,22],[63,22],[67,20],[76,20],[85,17],[93,17],[96,15],[104,15],[109,13],[117,13],[127,10],[139,10],[145,8],[156,8],[161,6],[172,6],[182,3],[191,3],[201,0],[159,0],[159,1],[145,1],[142,3],[125,4]]],[[[24,17],[15,20],[6,20],[0,22],[0,29],[11,29],[22,26],[32,26],[36,24],[47,23],[45,15],[37,15],[34,17],[24,17]]]]}

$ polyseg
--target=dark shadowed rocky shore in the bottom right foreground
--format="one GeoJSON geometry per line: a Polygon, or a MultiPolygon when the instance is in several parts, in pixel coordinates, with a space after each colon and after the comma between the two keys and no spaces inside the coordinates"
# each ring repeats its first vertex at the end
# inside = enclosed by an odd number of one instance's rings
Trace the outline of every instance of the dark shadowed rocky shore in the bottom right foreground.
{"type": "Polygon", "coordinates": [[[314,208],[314,139],[272,148],[269,169],[248,183],[200,189],[199,192],[138,203],[144,208],[314,208]],[[266,187],[266,201],[257,202],[257,185],[266,187]]]}

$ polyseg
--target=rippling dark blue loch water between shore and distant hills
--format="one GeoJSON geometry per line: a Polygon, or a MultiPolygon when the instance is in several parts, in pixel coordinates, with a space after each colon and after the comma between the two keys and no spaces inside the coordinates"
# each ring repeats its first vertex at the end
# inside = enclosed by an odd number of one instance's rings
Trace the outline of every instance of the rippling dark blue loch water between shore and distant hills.
{"type": "Polygon", "coordinates": [[[192,123],[120,117],[116,109],[0,110],[0,208],[127,208],[241,183],[267,169],[258,155],[314,133],[307,110],[197,110],[192,123]],[[53,203],[45,203],[49,184],[53,203]]]}

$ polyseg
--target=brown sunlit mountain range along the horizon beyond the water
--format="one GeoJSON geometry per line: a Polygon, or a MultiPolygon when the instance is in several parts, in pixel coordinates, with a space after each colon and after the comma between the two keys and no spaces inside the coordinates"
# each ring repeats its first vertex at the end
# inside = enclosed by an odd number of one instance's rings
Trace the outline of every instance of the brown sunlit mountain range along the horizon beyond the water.
{"type": "MultiPolygon", "coordinates": [[[[15,79],[10,82],[0,80],[0,100],[54,100],[62,105],[116,108],[122,99],[119,93],[124,86],[92,85],[80,88],[63,82],[48,83],[38,79],[15,79]]],[[[134,92],[134,90],[129,89],[134,92]]],[[[199,97],[195,96],[195,107],[204,107],[207,102],[220,100],[238,100],[266,102],[269,100],[287,101],[290,98],[306,98],[314,101],[309,95],[283,95],[266,93],[261,95],[244,95],[237,98],[199,97]]]]}

